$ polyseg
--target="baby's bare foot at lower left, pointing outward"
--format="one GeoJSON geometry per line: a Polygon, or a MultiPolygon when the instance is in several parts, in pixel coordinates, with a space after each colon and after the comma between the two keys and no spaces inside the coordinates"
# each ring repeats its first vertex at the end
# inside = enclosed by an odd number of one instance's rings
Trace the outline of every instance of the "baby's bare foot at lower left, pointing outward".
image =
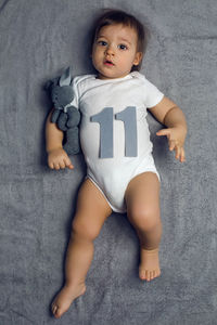
{"type": "Polygon", "coordinates": [[[84,295],[86,291],[85,284],[64,286],[52,302],[51,309],[55,318],[60,318],[71,307],[71,303],[84,295]]]}

